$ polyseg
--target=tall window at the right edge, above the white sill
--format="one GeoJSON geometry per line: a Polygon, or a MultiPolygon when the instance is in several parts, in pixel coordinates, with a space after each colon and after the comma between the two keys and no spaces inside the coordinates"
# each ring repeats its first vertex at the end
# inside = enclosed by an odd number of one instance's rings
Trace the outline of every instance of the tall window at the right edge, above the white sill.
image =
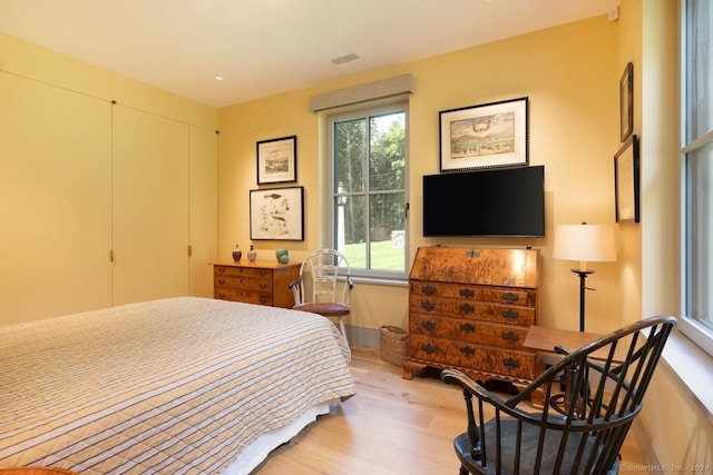
{"type": "Polygon", "coordinates": [[[713,10],[683,2],[684,305],[682,329],[713,354],[713,10]]]}

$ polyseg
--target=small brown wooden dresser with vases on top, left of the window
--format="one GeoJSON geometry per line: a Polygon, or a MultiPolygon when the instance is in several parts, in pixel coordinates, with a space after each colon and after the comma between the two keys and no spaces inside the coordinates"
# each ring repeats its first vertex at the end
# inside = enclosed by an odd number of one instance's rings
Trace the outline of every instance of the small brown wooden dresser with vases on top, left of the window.
{"type": "Polygon", "coordinates": [[[292,308],[290,283],[300,277],[300,263],[214,263],[213,296],[222,300],[292,308]]]}

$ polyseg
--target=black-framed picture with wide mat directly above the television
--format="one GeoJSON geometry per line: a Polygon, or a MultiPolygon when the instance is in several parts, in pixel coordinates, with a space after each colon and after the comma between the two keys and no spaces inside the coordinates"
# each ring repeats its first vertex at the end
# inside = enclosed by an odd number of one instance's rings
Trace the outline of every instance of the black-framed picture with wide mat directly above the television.
{"type": "Polygon", "coordinates": [[[527,165],[528,98],[442,110],[440,170],[527,165]]]}

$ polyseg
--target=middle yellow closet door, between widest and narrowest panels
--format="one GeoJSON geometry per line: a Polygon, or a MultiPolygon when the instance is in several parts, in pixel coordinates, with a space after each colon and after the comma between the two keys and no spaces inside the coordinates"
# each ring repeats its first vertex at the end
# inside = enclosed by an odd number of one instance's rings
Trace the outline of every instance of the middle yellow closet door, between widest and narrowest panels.
{"type": "Polygon", "coordinates": [[[114,305],[189,293],[189,126],[113,108],[114,305]]]}

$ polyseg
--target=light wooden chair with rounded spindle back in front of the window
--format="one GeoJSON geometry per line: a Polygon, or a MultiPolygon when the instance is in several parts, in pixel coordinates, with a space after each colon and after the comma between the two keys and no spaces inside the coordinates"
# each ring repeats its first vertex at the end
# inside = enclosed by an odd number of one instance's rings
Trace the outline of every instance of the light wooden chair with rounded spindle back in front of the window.
{"type": "Polygon", "coordinates": [[[346,257],[335,249],[318,249],[302,261],[300,278],[290,284],[293,308],[336,318],[346,337],[343,318],[351,313],[349,298],[353,287],[346,257]],[[339,280],[344,280],[341,290],[339,280]]]}

